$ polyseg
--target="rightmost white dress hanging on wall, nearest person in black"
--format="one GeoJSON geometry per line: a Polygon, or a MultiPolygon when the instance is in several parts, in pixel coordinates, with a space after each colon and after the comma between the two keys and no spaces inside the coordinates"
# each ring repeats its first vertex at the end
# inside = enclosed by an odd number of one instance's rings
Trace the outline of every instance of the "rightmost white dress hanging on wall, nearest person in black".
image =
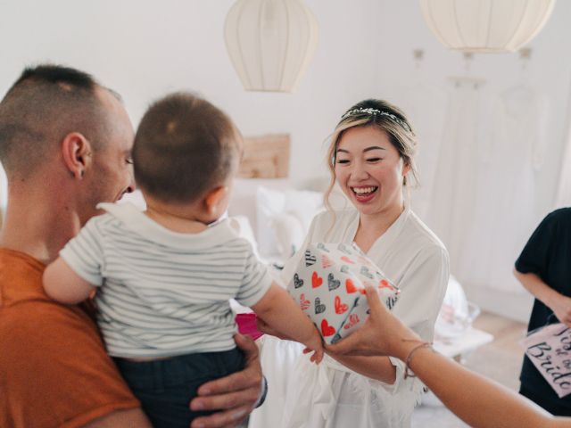
{"type": "Polygon", "coordinates": [[[512,270],[539,221],[535,181],[546,145],[546,104],[542,94],[525,85],[511,87],[495,100],[492,133],[483,144],[476,218],[463,259],[462,270],[472,270],[472,284],[525,292],[512,270]]]}

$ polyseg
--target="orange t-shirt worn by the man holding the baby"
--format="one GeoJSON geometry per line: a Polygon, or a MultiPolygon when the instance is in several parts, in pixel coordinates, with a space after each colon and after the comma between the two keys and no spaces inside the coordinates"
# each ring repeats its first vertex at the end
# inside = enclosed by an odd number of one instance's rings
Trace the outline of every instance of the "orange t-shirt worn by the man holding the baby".
{"type": "Polygon", "coordinates": [[[0,427],[77,427],[139,407],[93,319],[47,297],[44,264],[0,249],[0,427]]]}

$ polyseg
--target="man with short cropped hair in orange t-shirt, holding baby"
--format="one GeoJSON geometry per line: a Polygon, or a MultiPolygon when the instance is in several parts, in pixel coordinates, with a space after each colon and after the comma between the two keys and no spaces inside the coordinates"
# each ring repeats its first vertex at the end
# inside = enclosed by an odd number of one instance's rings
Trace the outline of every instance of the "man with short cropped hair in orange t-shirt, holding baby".
{"type": "MultiPolygon", "coordinates": [[[[59,66],[24,70],[0,102],[8,207],[0,233],[0,426],[148,427],[103,348],[88,308],[62,306],[42,273],[98,213],[131,192],[133,128],[118,95],[59,66]]],[[[255,345],[237,336],[242,372],[201,387],[192,426],[233,426],[258,400],[255,345]]]]}

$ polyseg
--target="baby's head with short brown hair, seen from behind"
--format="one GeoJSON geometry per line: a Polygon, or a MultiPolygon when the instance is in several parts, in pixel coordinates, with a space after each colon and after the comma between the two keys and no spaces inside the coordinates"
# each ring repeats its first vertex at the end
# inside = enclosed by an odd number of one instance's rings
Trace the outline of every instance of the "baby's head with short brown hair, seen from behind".
{"type": "Polygon", "coordinates": [[[147,203],[190,209],[190,217],[210,223],[228,208],[241,151],[240,133],[223,111],[190,93],[167,95],[137,128],[135,180],[147,203]]]}

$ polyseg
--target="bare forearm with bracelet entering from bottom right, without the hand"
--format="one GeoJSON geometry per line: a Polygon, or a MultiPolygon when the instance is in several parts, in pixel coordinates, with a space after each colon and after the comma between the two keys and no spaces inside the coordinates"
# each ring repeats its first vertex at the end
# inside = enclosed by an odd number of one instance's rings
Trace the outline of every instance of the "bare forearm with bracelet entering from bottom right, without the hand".
{"type": "MultiPolygon", "coordinates": [[[[414,346],[417,345],[411,343],[407,351],[414,346]]],[[[402,355],[407,354],[407,351],[402,355]]],[[[571,422],[550,416],[514,391],[469,371],[433,350],[417,350],[410,367],[446,407],[470,426],[571,427],[571,422]]]]}

